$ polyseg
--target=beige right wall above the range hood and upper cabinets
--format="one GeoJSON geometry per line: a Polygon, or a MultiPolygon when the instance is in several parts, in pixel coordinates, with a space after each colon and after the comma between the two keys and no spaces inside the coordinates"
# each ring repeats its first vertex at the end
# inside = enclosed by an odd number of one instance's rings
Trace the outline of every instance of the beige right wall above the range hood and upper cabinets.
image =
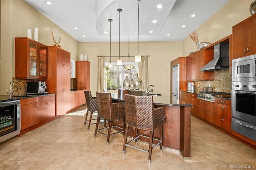
{"type": "MultiPolygon", "coordinates": [[[[230,0],[196,31],[200,42],[217,42],[232,34],[232,26],[251,16],[249,7],[252,0],[230,0]]],[[[196,44],[187,37],[182,42],[182,55],[196,51],[196,44]]]]}

